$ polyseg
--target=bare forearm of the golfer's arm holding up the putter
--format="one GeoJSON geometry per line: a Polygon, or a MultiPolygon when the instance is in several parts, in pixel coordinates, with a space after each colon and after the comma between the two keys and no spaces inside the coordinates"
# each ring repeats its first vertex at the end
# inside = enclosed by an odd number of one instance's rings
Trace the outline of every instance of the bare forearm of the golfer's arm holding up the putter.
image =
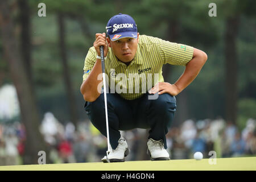
{"type": "Polygon", "coordinates": [[[90,75],[86,78],[84,82],[82,82],[80,91],[82,96],[84,96],[85,101],[93,102],[98,96],[100,96],[100,92],[98,92],[98,85],[102,80],[98,80],[98,75],[102,73],[101,68],[101,60],[96,61],[90,75]]]}

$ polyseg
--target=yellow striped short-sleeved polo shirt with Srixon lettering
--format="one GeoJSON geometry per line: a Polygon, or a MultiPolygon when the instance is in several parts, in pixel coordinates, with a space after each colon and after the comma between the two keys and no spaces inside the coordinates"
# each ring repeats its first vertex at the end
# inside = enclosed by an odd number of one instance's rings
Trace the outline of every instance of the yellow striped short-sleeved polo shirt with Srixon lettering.
{"type": "MultiPolygon", "coordinates": [[[[91,47],[85,57],[85,80],[96,63],[96,50],[91,47]]],[[[140,35],[137,52],[127,66],[109,48],[105,59],[106,82],[110,93],[118,93],[126,100],[141,97],[158,82],[163,82],[163,64],[186,65],[193,56],[193,47],[140,35]]]]}

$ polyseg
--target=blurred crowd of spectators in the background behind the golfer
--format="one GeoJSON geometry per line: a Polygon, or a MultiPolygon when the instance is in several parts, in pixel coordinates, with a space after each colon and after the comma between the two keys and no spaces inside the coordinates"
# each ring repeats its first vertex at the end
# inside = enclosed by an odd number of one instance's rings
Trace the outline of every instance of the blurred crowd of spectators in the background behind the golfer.
{"type": "MultiPolygon", "coordinates": [[[[184,121],[179,127],[171,127],[167,134],[167,150],[171,159],[192,159],[196,151],[210,158],[210,151],[217,158],[256,155],[256,121],[248,119],[242,131],[224,119],[184,121]]],[[[106,155],[106,138],[90,123],[80,122],[77,128],[71,122],[59,122],[52,113],[46,113],[40,132],[50,147],[51,163],[100,162],[106,155]]],[[[126,160],[141,160],[147,155],[146,142],[141,140],[147,130],[122,131],[131,153],[126,160]],[[142,152],[142,153],[141,153],[142,152]],[[141,155],[142,154],[142,155],[141,155]]],[[[22,123],[0,124],[0,166],[22,164],[26,130],[22,123]]]]}

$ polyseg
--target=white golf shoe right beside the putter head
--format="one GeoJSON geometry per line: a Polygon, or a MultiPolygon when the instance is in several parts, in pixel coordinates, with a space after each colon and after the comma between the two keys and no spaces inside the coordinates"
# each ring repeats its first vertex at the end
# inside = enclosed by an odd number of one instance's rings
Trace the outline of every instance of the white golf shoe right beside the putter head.
{"type": "Polygon", "coordinates": [[[123,137],[120,137],[118,140],[118,146],[115,150],[110,146],[110,152],[108,159],[110,162],[125,162],[125,157],[130,153],[130,150],[127,146],[126,140],[123,137]]]}

